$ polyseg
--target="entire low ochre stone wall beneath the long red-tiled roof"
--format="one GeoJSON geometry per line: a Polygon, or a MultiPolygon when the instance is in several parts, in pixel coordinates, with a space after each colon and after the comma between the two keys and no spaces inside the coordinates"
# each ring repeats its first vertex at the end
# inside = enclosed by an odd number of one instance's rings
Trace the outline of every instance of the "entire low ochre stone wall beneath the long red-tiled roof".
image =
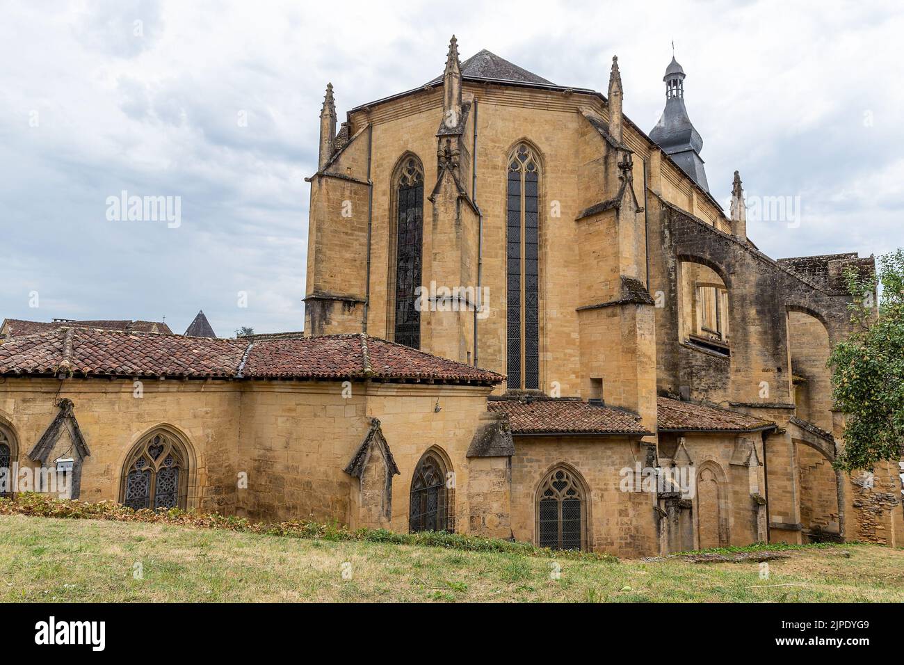
{"type": "Polygon", "coordinates": [[[389,499],[386,526],[400,532],[409,528],[412,474],[433,449],[454,472],[457,530],[511,536],[507,458],[466,457],[490,388],[355,383],[344,397],[339,382],[145,381],[143,397],[133,391],[125,380],[7,378],[0,422],[19,464],[34,466],[27,452],[58,413],[56,400],[71,399],[90,451],[80,499],[119,500],[129,451],[163,427],[190,451],[189,508],[372,525],[389,499]],[[389,498],[354,493],[359,480],[344,471],[374,418],[400,471],[389,498]]]}

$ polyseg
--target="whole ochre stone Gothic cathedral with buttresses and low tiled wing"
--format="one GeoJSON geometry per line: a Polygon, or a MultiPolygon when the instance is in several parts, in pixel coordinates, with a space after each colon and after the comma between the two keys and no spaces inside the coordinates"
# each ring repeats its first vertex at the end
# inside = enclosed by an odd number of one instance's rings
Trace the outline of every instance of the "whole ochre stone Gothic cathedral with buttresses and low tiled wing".
{"type": "Polygon", "coordinates": [[[832,466],[843,273],[873,260],[760,252],[739,173],[728,211],[710,193],[685,77],[673,58],[649,133],[617,58],[603,94],[453,37],[441,75],[342,122],[328,85],[304,333],[8,334],[0,467],[66,461],[75,496],[135,508],[626,557],[899,546],[897,467],[832,466]]]}

